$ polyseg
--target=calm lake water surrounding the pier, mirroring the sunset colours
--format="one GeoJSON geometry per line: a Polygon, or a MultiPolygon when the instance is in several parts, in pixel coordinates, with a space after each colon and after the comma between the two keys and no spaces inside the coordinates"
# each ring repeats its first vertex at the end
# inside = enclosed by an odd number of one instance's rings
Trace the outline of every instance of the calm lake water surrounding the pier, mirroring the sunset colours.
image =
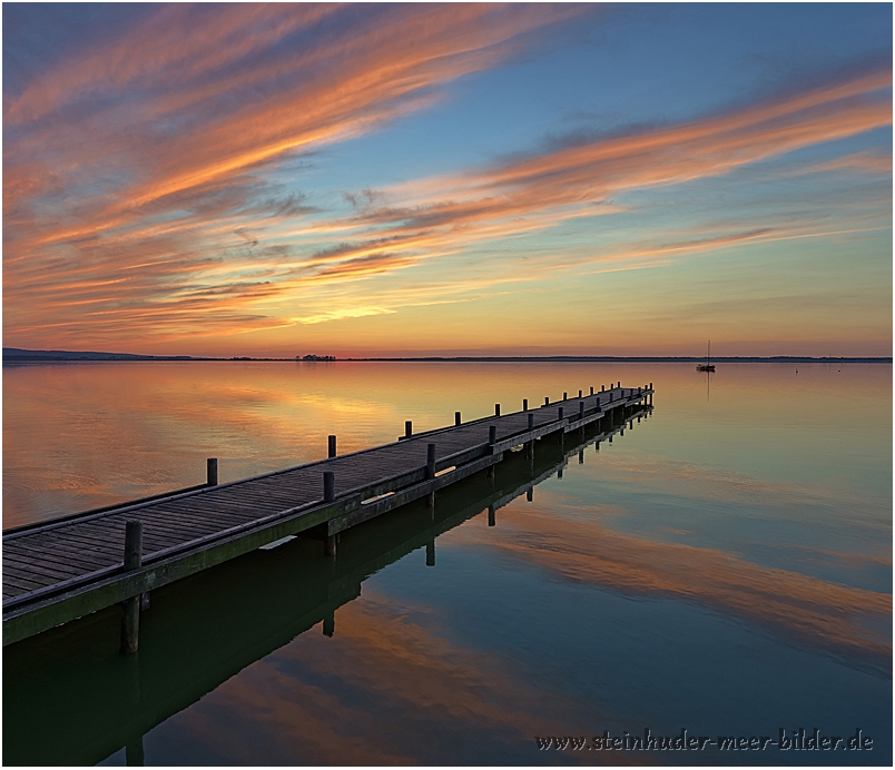
{"type": "Polygon", "coordinates": [[[336,562],[296,540],[158,590],[136,657],[117,610],[4,649],[4,762],[891,764],[888,365],[4,367],[3,526],[619,379],[653,382],[655,409],[599,451],[508,455],[336,562]],[[874,742],[535,744],[646,728],[874,742]]]}

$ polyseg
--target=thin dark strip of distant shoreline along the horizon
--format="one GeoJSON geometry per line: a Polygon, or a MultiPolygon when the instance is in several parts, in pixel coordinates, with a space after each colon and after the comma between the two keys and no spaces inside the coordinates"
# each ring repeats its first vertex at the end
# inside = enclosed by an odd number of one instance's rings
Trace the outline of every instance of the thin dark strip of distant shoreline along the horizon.
{"type": "MultiPolygon", "coordinates": [[[[18,362],[66,362],[66,361],[378,361],[378,362],[498,362],[498,363],[692,363],[702,362],[705,356],[414,356],[414,357],[370,357],[370,358],[336,358],[335,356],[318,356],[309,354],[293,358],[267,358],[254,356],[232,356],[220,358],[213,356],[150,356],[140,353],[99,353],[95,351],[28,351],[20,347],[4,347],[3,363],[18,362]]],[[[724,364],[891,364],[888,357],[813,357],[813,356],[715,356],[715,363],[724,364]]]]}

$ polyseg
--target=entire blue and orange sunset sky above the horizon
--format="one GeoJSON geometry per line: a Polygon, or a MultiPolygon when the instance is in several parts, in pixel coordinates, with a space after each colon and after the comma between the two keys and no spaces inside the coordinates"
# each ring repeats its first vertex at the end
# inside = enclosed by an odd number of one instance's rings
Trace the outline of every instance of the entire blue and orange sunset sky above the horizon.
{"type": "Polygon", "coordinates": [[[892,355],[889,3],[2,18],[7,347],[892,355]]]}

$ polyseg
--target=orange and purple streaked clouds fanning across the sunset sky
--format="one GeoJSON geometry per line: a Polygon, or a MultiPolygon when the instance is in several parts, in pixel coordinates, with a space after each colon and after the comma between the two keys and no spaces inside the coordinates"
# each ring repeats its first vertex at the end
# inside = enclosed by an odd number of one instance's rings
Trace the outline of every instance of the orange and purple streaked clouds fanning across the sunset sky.
{"type": "Polygon", "coordinates": [[[337,148],[446,109],[471,76],[604,16],[567,4],[160,6],[9,78],[9,344],[160,352],[190,335],[219,347],[237,332],[273,340],[266,332],[495,290],[521,313],[545,280],[572,288],[574,276],[891,227],[891,152],[828,149],[892,125],[891,67],[873,62],[687,119],[532,137],[439,175],[385,181],[384,164],[356,187],[327,181],[337,148]],[[798,157],[820,147],[819,160],[798,157]],[[645,201],[707,180],[734,189],[855,171],[883,187],[823,215],[669,221],[645,201]]]}

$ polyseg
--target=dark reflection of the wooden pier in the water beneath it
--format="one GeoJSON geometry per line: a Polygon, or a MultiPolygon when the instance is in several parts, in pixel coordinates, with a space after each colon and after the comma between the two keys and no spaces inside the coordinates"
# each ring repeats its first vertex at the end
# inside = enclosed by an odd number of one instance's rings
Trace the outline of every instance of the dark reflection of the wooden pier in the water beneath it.
{"type": "Polygon", "coordinates": [[[599,430],[539,440],[533,453],[508,452],[494,477],[482,472],[439,492],[434,510],[419,501],[344,533],[337,560],[299,537],[160,589],[144,614],[137,654],[118,654],[117,609],[8,648],[4,701],[14,708],[3,713],[4,762],[95,764],[124,752],[119,760],[142,764],[144,734],[170,715],[298,634],[315,626],[338,634],[337,611],[370,575],[417,550],[434,567],[442,533],[482,513],[488,526],[498,525],[502,506],[520,496],[531,502],[534,486],[561,477],[570,457],[583,463],[587,447],[599,450],[651,411],[629,408],[599,430]]]}

